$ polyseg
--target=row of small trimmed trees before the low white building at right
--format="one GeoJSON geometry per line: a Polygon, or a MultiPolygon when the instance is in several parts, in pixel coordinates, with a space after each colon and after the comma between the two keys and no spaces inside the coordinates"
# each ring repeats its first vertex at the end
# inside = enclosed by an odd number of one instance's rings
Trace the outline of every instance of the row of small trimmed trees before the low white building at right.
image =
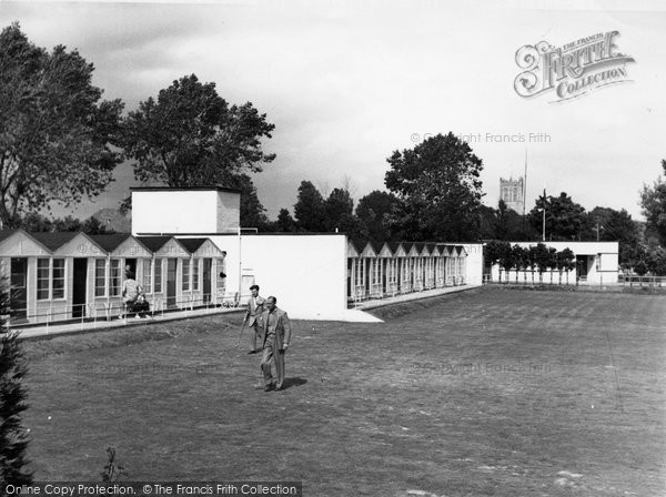
{"type": "MultiPolygon", "coordinates": [[[[554,247],[546,246],[544,243],[537,243],[529,247],[523,247],[506,241],[493,240],[484,247],[484,256],[486,264],[500,266],[500,281],[502,281],[502,271],[504,271],[505,281],[508,282],[509,274],[512,271],[516,272],[516,280],[518,273],[523,272],[524,283],[527,283],[527,272],[532,273],[532,284],[534,284],[534,273],[538,273],[538,282],[543,284],[543,275],[546,271],[558,272],[559,278],[558,284],[562,284],[563,274],[566,275],[566,283],[568,284],[569,272],[573,271],[575,265],[575,254],[569,248],[557,251],[554,247]]],[[[551,273],[552,275],[553,273],[551,273]]],[[[551,276],[552,277],[552,276],[551,276]]],[[[551,283],[553,281],[551,280],[551,283]]]]}

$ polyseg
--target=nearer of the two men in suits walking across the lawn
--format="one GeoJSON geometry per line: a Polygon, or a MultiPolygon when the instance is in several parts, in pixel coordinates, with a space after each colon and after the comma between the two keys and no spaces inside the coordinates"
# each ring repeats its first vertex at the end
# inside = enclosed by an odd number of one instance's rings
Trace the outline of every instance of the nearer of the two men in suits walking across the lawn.
{"type": "Polygon", "coordinates": [[[266,298],[265,311],[261,315],[264,336],[261,371],[264,375],[264,392],[269,392],[273,387],[276,390],[282,389],[284,383],[284,353],[291,339],[289,316],[275,304],[278,304],[275,297],[270,296],[266,298]],[[273,377],[273,369],[275,371],[275,377],[273,377]]]}

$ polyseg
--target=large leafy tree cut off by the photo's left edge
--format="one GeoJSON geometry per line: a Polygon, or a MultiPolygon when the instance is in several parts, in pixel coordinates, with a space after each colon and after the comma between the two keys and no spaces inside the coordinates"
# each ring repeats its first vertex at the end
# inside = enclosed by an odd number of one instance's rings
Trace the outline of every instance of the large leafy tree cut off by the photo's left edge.
{"type": "Polygon", "coordinates": [[[0,32],[0,222],[100,194],[120,162],[120,100],[101,101],[92,63],[50,53],[18,23],[0,32]]]}

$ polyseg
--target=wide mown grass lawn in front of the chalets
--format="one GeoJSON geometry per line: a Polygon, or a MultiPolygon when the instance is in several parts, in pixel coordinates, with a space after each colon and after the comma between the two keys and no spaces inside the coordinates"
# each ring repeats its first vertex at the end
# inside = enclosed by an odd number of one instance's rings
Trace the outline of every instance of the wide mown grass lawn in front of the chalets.
{"type": "Polygon", "coordinates": [[[27,342],[36,480],[99,480],[115,446],[128,480],[305,496],[666,494],[665,296],[486,288],[377,315],[293,322],[271,393],[240,314],[27,342]]]}

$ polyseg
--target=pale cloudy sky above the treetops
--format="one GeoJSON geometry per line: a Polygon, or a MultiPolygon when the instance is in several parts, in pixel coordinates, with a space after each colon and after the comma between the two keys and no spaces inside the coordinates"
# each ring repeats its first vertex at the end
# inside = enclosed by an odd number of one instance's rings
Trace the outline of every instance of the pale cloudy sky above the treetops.
{"type": "MultiPolygon", "coordinates": [[[[523,175],[527,163],[527,209],[545,187],[640,220],[639,191],[666,159],[658,0],[0,0],[0,26],[13,21],[40,47],[78,49],[125,111],[192,73],[230,103],[252,102],[275,124],[264,150],[276,160],[253,176],[271,219],[293,207],[303,180],[324,194],[347,184],[355,200],[385,190],[386,158],[437,133],[464,138],[483,160],[492,206],[500,178],[523,175]],[[616,84],[564,101],[555,90],[517,93],[522,47],[612,31],[615,53],[635,61],[616,84]]],[[[56,212],[117,207],[133,185],[123,164],[101,196],[56,212]]]]}

